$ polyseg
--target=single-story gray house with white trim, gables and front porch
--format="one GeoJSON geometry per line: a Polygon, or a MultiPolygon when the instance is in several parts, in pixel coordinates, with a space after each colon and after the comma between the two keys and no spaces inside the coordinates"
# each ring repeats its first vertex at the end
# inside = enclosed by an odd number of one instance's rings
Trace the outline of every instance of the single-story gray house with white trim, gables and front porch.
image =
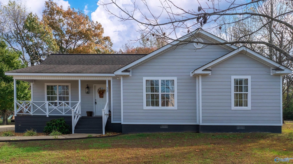
{"type": "Polygon", "coordinates": [[[198,30],[145,55],[52,54],[5,72],[15,95],[16,80],[31,83],[31,101],[14,97],[16,132],[64,117],[73,133],[281,133],[292,70],[244,46],[190,39],[226,42],[198,30]]]}

